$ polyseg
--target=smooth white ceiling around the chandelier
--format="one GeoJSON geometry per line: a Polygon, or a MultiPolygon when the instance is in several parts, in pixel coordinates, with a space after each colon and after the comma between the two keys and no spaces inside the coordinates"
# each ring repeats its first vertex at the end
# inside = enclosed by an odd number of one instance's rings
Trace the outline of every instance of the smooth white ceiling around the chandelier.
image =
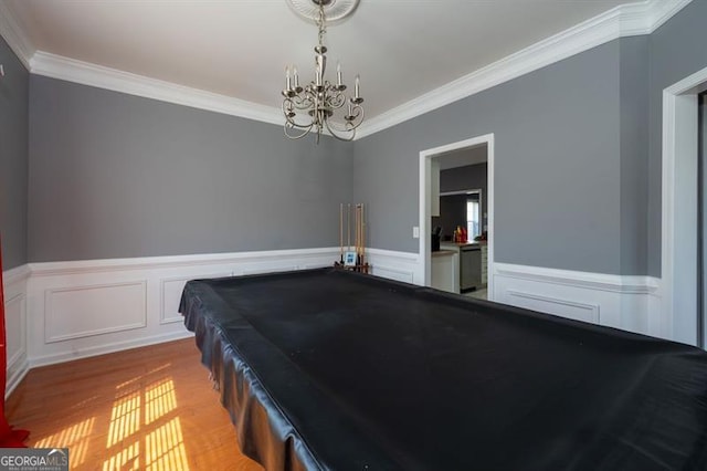
{"type": "MultiPolygon", "coordinates": [[[[272,107],[286,64],[313,77],[316,28],[285,0],[0,1],[38,51],[272,107]]],[[[328,29],[329,77],[359,73],[370,118],[622,3],[361,0],[328,29]]]]}

